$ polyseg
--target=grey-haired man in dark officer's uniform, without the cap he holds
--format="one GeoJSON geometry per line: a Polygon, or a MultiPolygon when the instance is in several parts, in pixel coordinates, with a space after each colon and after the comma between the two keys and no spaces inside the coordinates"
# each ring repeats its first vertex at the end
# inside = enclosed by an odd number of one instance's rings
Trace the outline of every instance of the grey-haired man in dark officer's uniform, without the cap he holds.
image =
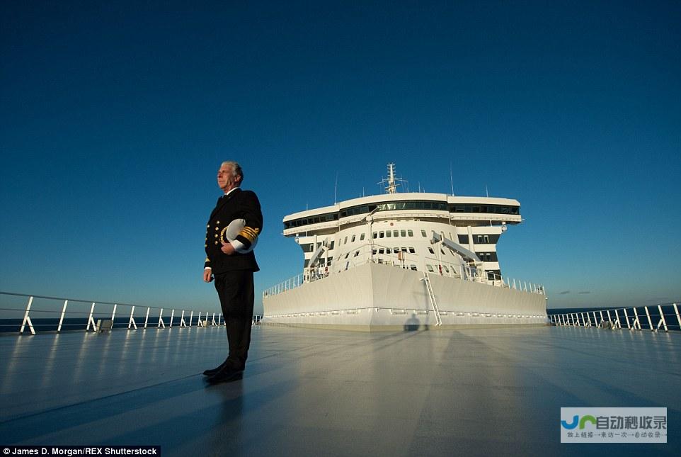
{"type": "Polygon", "coordinates": [[[251,245],[263,229],[258,197],[242,191],[244,172],[236,162],[222,162],[217,185],[222,189],[206,225],[206,260],[203,280],[215,280],[215,289],[227,327],[229,354],[220,366],[203,372],[209,383],[241,379],[251,344],[253,320],[253,273],[258,271],[251,245]],[[235,219],[246,221],[235,239],[227,239],[227,227],[235,219]]]}

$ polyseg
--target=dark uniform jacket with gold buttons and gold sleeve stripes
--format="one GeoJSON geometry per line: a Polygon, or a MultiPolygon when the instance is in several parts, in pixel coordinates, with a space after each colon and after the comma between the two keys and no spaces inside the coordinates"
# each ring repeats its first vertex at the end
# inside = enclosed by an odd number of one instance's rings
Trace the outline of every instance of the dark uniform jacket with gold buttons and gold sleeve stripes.
{"type": "Polygon", "coordinates": [[[263,213],[256,193],[235,188],[229,195],[218,198],[215,209],[210,213],[206,225],[206,260],[204,266],[210,266],[213,274],[226,271],[248,270],[259,271],[253,251],[246,254],[235,252],[231,256],[222,252],[222,242],[227,240],[227,226],[235,219],[246,220],[246,227],[236,237],[244,244],[243,249],[251,247],[251,243],[263,230],[263,213]]]}

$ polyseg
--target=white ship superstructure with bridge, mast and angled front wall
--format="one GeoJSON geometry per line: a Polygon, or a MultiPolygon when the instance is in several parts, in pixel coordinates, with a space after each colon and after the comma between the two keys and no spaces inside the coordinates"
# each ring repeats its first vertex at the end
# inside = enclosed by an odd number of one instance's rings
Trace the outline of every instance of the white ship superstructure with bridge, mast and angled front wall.
{"type": "Polygon", "coordinates": [[[263,292],[263,324],[352,330],[546,325],[544,286],[503,275],[510,198],[385,193],[287,215],[303,271],[263,292]]]}

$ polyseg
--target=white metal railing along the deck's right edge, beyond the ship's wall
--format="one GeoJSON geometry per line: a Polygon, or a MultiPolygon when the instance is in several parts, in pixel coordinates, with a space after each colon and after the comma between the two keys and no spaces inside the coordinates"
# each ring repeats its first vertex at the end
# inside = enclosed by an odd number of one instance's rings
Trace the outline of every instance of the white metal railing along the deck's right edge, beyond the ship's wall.
{"type": "Polygon", "coordinates": [[[678,302],[631,308],[602,308],[575,312],[550,313],[549,322],[556,327],[595,327],[601,329],[681,330],[678,302]]]}

